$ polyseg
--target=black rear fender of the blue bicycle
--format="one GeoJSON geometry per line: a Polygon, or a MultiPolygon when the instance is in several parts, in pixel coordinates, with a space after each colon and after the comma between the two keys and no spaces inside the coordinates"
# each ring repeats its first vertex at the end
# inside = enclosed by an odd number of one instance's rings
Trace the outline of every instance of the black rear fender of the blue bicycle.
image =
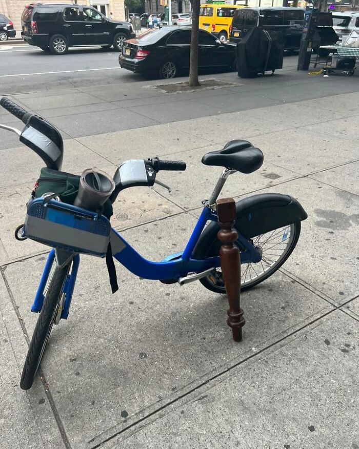
{"type": "MultiPolygon", "coordinates": [[[[235,228],[247,239],[308,217],[295,198],[279,193],[263,193],[244,198],[235,203],[235,210],[235,228]]],[[[215,221],[208,224],[193,250],[194,259],[218,255],[220,242],[217,240],[217,233],[219,230],[220,227],[215,221]],[[218,243],[213,245],[215,241],[218,243]]]]}

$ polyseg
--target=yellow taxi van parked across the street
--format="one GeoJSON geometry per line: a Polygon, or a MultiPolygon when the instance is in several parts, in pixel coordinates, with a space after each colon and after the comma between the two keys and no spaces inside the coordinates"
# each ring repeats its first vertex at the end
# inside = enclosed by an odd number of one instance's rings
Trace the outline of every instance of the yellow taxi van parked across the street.
{"type": "Polygon", "coordinates": [[[221,42],[229,37],[229,27],[232,24],[234,11],[244,8],[241,5],[201,5],[200,28],[218,36],[221,42]]]}

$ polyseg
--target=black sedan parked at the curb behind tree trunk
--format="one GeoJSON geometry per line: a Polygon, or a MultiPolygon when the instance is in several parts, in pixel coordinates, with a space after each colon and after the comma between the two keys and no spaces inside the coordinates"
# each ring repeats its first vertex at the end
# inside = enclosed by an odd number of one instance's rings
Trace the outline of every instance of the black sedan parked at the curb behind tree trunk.
{"type": "MultiPolygon", "coordinates": [[[[134,73],[173,78],[189,69],[190,46],[190,27],[153,29],[126,40],[118,62],[123,69],[134,73]]],[[[198,67],[235,70],[235,45],[224,44],[208,31],[200,30],[198,67]]]]}

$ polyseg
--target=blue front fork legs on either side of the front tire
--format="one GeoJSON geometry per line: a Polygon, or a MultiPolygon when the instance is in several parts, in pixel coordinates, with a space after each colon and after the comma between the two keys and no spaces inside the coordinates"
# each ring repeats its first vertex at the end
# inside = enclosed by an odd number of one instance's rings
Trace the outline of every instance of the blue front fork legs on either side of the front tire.
{"type": "MultiPolygon", "coordinates": [[[[31,306],[31,312],[37,312],[37,313],[41,312],[41,309],[42,309],[43,303],[44,303],[44,299],[45,299],[44,290],[45,290],[47,281],[49,279],[49,275],[51,272],[51,268],[52,268],[54,259],[55,259],[55,250],[52,249],[47,257],[44,272],[41,276],[40,282],[37,287],[37,292],[36,292],[34,301],[31,306]]],[[[67,275],[67,278],[66,278],[65,284],[64,284],[64,288],[62,291],[62,294],[65,293],[65,303],[64,303],[64,307],[63,307],[63,310],[61,313],[61,318],[63,318],[63,319],[67,319],[67,317],[69,316],[71,298],[72,298],[72,294],[73,294],[73,289],[75,287],[79,263],[80,263],[80,256],[79,256],[79,254],[76,254],[72,259],[71,273],[69,273],[67,275]]]]}

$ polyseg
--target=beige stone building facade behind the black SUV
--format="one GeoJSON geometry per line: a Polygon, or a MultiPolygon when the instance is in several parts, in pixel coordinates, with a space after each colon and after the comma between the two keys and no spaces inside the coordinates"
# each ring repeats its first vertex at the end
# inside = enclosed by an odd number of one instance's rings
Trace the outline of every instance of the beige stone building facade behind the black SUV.
{"type": "MultiPolygon", "coordinates": [[[[0,0],[0,14],[4,14],[13,22],[17,32],[21,31],[21,16],[26,5],[32,2],[25,0],[0,0]]],[[[37,3],[37,2],[33,2],[37,3]]],[[[39,2],[38,2],[39,3],[39,2]]],[[[125,20],[125,1],[124,0],[44,0],[43,3],[78,3],[79,5],[93,6],[109,18],[114,20],[125,20]]]]}

